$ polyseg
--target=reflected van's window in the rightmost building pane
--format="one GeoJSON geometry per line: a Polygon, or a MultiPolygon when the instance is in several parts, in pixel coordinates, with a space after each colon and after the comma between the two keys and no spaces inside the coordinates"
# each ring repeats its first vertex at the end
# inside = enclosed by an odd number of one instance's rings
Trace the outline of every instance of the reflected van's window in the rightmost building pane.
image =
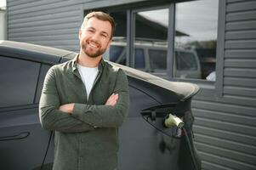
{"type": "Polygon", "coordinates": [[[196,71],[197,64],[195,55],[191,52],[175,52],[176,66],[179,71],[196,71]]]}

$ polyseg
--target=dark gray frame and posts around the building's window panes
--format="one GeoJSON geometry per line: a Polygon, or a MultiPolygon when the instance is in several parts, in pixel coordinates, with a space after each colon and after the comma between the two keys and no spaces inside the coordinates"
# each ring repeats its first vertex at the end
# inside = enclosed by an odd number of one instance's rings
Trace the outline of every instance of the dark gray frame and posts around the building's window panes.
{"type": "MultiPolygon", "coordinates": [[[[94,4],[90,7],[88,5],[84,5],[82,7],[83,12],[88,9],[102,9],[107,8],[108,12],[118,12],[125,10],[127,13],[127,65],[134,68],[134,33],[135,33],[135,13],[146,11],[146,10],[154,10],[161,8],[169,9],[168,16],[168,56],[167,56],[167,75],[164,78],[168,78],[170,81],[174,82],[192,82],[199,85],[201,88],[199,94],[202,94],[200,98],[208,99],[208,97],[215,96],[216,98],[223,97],[223,72],[224,72],[224,54],[225,54],[225,8],[226,8],[226,0],[218,0],[219,8],[218,8],[218,29],[217,29],[217,47],[216,47],[216,80],[207,81],[202,79],[193,79],[193,78],[178,78],[174,77],[174,38],[175,38],[175,6],[176,3],[181,2],[190,2],[193,0],[184,0],[184,1],[145,1],[145,2],[133,2],[133,3],[111,3],[109,4],[94,4]],[[128,57],[131,56],[131,57],[128,57]]],[[[159,76],[161,74],[154,73],[154,75],[159,76]]],[[[162,75],[161,75],[162,76],[162,75]]]]}

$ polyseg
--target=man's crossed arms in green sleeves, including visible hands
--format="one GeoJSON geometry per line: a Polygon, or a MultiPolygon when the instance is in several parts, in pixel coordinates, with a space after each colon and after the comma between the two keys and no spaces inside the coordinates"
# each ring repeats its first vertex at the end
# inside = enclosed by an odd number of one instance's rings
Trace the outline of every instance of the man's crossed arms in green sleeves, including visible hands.
{"type": "Polygon", "coordinates": [[[56,87],[56,74],[50,69],[45,77],[39,103],[42,127],[65,133],[95,130],[95,127],[120,127],[128,112],[128,81],[123,71],[118,71],[115,94],[105,105],[71,103],[60,105],[56,87]]]}

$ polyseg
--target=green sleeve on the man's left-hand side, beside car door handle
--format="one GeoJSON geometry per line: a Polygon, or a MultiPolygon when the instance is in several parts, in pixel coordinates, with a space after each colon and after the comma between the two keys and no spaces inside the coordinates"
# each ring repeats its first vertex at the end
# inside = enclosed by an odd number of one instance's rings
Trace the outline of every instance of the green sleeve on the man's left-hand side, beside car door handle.
{"type": "Polygon", "coordinates": [[[59,110],[60,96],[56,88],[54,67],[51,67],[44,79],[39,102],[39,117],[44,129],[64,133],[78,133],[94,130],[86,122],[59,110]]]}

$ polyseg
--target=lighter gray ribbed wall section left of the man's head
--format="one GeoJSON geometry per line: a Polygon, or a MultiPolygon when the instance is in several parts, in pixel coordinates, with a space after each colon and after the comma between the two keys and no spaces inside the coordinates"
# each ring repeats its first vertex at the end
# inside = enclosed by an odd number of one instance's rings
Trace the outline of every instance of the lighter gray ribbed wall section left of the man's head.
{"type": "Polygon", "coordinates": [[[8,39],[78,51],[81,1],[8,0],[8,39]]]}

